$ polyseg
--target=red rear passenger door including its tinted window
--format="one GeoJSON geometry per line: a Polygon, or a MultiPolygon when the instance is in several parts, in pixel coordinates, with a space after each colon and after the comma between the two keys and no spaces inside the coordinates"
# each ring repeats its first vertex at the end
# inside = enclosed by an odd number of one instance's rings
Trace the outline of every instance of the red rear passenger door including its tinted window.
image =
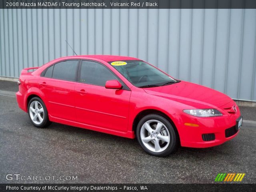
{"type": "Polygon", "coordinates": [[[74,88],[79,60],[65,60],[47,68],[39,81],[50,117],[75,121],[74,88]]]}

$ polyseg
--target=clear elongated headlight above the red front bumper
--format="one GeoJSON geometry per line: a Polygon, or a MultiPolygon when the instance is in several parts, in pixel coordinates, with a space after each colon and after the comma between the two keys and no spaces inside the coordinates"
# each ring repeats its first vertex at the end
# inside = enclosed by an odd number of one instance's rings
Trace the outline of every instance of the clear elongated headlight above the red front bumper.
{"type": "Polygon", "coordinates": [[[222,113],[216,109],[186,109],[185,113],[196,117],[216,117],[222,116],[222,113]]]}

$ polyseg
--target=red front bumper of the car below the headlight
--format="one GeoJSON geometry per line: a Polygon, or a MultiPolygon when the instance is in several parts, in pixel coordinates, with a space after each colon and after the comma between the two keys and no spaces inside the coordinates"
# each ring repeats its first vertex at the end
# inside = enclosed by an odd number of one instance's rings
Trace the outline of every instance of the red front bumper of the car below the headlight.
{"type": "Polygon", "coordinates": [[[177,129],[180,136],[180,144],[184,147],[193,148],[206,148],[220,145],[236,137],[240,132],[240,130],[234,132],[236,120],[239,117],[239,109],[234,114],[224,114],[220,117],[211,118],[199,118],[182,113],[176,122],[176,125],[178,125],[177,129]],[[197,124],[198,127],[186,126],[184,125],[185,123],[197,124]],[[202,138],[203,134],[214,134],[215,138],[214,140],[204,141],[202,138]]]}

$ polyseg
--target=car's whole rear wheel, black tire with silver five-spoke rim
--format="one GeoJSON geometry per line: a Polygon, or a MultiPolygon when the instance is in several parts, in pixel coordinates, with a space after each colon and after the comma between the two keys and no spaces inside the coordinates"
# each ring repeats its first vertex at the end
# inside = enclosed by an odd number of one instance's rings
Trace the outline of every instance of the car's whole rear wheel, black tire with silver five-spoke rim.
{"type": "Polygon", "coordinates": [[[34,97],[29,101],[28,116],[32,124],[38,128],[45,128],[51,123],[46,106],[39,97],[34,97]]]}

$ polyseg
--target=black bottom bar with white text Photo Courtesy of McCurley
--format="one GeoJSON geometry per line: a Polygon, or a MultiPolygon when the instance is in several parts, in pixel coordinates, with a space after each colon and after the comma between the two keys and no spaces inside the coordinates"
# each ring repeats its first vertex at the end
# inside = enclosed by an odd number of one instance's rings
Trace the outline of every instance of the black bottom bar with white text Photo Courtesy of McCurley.
{"type": "Polygon", "coordinates": [[[0,184],[1,192],[251,192],[256,184],[0,184]]]}

